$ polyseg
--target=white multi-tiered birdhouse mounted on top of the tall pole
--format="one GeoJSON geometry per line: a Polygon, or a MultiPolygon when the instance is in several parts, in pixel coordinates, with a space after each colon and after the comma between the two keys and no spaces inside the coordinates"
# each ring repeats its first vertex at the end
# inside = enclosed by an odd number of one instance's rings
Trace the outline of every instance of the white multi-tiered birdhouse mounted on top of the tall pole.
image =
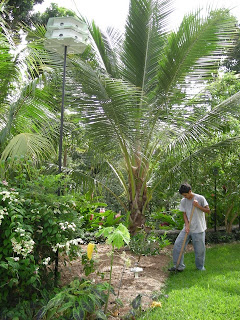
{"type": "Polygon", "coordinates": [[[87,25],[73,17],[54,17],[47,23],[45,48],[63,53],[67,46],[68,53],[82,53],[87,46],[87,25]]]}

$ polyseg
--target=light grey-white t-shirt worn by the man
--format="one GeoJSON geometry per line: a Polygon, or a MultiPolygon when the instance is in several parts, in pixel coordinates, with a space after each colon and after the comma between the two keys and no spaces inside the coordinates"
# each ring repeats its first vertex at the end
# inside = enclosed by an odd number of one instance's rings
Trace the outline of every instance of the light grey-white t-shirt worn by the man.
{"type": "MultiPolygon", "coordinates": [[[[190,219],[194,200],[197,200],[201,207],[208,206],[207,200],[204,198],[204,196],[201,196],[200,194],[194,193],[194,197],[190,200],[183,198],[180,202],[179,210],[186,212],[188,220],[190,219]]],[[[184,225],[184,228],[185,228],[185,225],[184,225]]],[[[207,229],[207,226],[206,226],[206,220],[205,220],[205,212],[195,207],[191,225],[190,225],[190,232],[199,233],[199,232],[204,232],[206,229],[207,229]]]]}

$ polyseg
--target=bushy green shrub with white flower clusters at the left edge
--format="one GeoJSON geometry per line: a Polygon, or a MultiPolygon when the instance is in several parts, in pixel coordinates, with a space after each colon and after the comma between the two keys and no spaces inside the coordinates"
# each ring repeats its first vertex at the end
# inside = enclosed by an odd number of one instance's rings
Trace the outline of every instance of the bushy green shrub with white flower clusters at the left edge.
{"type": "Polygon", "coordinates": [[[38,289],[53,286],[51,266],[57,251],[70,259],[81,254],[81,217],[75,202],[64,196],[48,202],[48,197],[39,201],[34,189],[31,193],[0,183],[1,307],[21,297],[34,301],[38,289]]]}

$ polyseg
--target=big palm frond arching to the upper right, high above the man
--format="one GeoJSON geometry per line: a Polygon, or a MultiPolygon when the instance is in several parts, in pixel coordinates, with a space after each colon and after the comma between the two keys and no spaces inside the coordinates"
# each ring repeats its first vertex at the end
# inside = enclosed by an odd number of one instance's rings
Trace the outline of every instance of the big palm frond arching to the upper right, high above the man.
{"type": "Polygon", "coordinates": [[[218,67],[226,49],[233,45],[235,36],[235,20],[228,12],[210,12],[203,18],[198,10],[185,16],[179,30],[168,37],[162,52],[158,76],[160,96],[166,100],[166,95],[173,94],[179,85],[186,89],[191,81],[196,85],[206,80],[218,67]]]}

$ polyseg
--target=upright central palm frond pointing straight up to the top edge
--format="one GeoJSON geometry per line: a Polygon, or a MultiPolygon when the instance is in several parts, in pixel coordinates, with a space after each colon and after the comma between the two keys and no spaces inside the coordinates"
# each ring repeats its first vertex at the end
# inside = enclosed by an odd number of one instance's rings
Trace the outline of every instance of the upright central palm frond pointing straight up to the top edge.
{"type": "MultiPolygon", "coordinates": [[[[137,87],[151,87],[166,34],[172,1],[131,0],[122,53],[123,77],[137,87]]],[[[145,88],[146,87],[146,88],[145,88]]]]}

